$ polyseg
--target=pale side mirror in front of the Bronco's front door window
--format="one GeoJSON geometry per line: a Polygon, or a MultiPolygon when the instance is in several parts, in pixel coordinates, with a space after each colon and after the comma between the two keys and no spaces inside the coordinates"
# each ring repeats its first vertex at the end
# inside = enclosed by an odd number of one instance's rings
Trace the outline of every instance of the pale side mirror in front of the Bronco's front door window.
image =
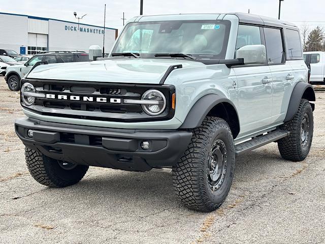
{"type": "Polygon", "coordinates": [[[237,50],[237,58],[244,58],[247,64],[265,64],[266,48],[264,45],[246,45],[237,50]]]}

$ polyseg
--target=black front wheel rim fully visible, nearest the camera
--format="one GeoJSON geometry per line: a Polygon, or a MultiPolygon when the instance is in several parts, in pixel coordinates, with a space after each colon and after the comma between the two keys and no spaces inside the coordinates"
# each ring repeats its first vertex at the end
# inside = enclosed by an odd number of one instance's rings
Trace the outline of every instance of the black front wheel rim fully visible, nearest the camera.
{"type": "Polygon", "coordinates": [[[213,143],[211,147],[207,177],[210,189],[216,191],[220,188],[227,166],[227,150],[222,140],[218,139],[213,143]]]}

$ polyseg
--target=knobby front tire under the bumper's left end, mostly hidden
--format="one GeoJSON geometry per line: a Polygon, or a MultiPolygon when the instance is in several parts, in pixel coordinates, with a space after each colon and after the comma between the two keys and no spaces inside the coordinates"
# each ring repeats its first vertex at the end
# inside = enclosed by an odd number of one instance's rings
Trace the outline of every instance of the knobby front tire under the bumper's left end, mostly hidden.
{"type": "Polygon", "coordinates": [[[25,158],[31,176],[48,187],[61,188],[77,184],[89,168],[89,166],[76,165],[72,169],[64,169],[57,160],[28,147],[25,147],[25,158]]]}

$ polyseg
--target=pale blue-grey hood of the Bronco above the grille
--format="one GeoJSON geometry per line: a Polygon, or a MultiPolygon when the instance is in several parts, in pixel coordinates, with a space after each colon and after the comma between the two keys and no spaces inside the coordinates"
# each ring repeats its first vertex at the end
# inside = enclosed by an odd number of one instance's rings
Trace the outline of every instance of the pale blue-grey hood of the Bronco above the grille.
{"type": "Polygon", "coordinates": [[[32,70],[27,78],[158,84],[172,65],[182,65],[183,68],[205,66],[200,62],[183,59],[107,59],[93,62],[40,65],[32,70]]]}

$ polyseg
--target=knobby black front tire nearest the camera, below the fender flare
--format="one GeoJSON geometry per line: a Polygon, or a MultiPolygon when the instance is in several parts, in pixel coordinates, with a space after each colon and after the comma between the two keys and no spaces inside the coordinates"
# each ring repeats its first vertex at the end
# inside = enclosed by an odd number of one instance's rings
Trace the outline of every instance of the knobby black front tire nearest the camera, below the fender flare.
{"type": "Polygon", "coordinates": [[[173,167],[173,187],[189,209],[212,211],[222,204],[231,188],[235,169],[234,139],[226,121],[217,117],[206,117],[192,133],[184,155],[173,167]],[[222,170],[223,179],[219,181],[221,185],[213,189],[209,166],[216,143],[225,150],[226,165],[222,170]]]}

